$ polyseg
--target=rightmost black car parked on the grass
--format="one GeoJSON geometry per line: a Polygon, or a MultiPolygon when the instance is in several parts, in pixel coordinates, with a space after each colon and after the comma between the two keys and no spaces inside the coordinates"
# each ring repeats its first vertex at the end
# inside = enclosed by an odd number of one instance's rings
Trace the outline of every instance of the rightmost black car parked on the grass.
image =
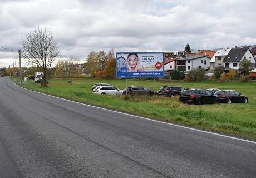
{"type": "Polygon", "coordinates": [[[219,97],[221,103],[248,103],[248,97],[235,90],[217,91],[214,95],[219,97]]]}

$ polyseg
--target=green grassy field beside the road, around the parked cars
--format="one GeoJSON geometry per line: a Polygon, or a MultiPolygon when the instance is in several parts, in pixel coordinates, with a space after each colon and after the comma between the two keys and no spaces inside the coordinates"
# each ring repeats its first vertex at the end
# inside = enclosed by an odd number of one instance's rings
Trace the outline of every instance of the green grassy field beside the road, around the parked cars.
{"type": "MultiPolygon", "coordinates": [[[[29,81],[29,80],[28,80],[29,81]]],[[[38,83],[22,85],[31,90],[70,100],[89,103],[91,105],[112,108],[135,115],[146,116],[156,120],[189,125],[204,130],[218,131],[256,140],[256,82],[184,82],[156,81],[156,91],[163,85],[176,85],[190,88],[233,89],[248,96],[249,103],[232,103],[217,105],[186,105],[179,102],[178,97],[125,97],[107,96],[91,93],[95,83],[110,83],[123,90],[125,80],[77,79],[68,84],[67,80],[51,80],[48,88],[38,83]]],[[[127,80],[128,86],[146,86],[153,89],[152,80],[127,80]]]]}

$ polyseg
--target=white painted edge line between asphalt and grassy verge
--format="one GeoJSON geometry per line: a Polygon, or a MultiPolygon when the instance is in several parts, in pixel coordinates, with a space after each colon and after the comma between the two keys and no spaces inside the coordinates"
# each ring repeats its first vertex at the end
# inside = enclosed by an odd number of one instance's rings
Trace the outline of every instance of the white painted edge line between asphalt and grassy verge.
{"type": "MultiPolygon", "coordinates": [[[[9,80],[12,81],[11,79],[9,79],[9,80]]],[[[12,81],[12,82],[13,82],[13,81],[12,81]]],[[[13,82],[13,83],[14,83],[14,82],[13,82]]],[[[16,83],[14,83],[14,85],[16,85],[16,83]]],[[[16,86],[18,86],[18,85],[16,85],[16,86]]],[[[22,89],[24,89],[24,90],[28,90],[28,91],[40,93],[41,95],[46,95],[46,96],[50,96],[50,97],[55,97],[55,98],[58,98],[58,99],[61,99],[61,100],[65,100],[65,101],[68,101],[68,102],[74,102],[74,103],[77,103],[77,104],[80,104],[80,105],[85,105],[85,106],[90,106],[90,107],[94,107],[94,108],[99,108],[99,109],[105,110],[105,111],[111,111],[111,112],[115,112],[115,113],[120,113],[120,114],[122,114],[122,115],[127,115],[127,116],[142,118],[142,119],[144,119],[144,120],[149,120],[149,121],[158,122],[158,123],[164,123],[164,124],[171,125],[171,126],[176,126],[176,127],[180,127],[180,128],[186,128],[186,129],[188,129],[188,130],[193,130],[193,131],[208,133],[208,134],[211,134],[211,135],[216,135],[216,136],[226,137],[226,138],[229,138],[229,139],[234,139],[234,140],[239,140],[239,141],[244,141],[244,142],[249,142],[249,143],[252,143],[252,144],[256,144],[255,141],[251,141],[251,140],[239,139],[239,138],[237,138],[237,137],[222,135],[222,134],[220,134],[220,133],[208,132],[208,131],[199,130],[199,129],[196,129],[196,128],[190,128],[190,127],[186,127],[186,126],[176,125],[176,124],[174,124],[174,123],[162,122],[162,121],[153,120],[153,119],[151,119],[151,118],[146,118],[146,117],[141,117],[141,116],[135,116],[135,115],[131,115],[131,114],[129,114],[129,113],[124,113],[124,112],[109,110],[109,109],[102,108],[102,107],[98,107],[98,106],[92,106],[92,105],[88,105],[88,104],[81,103],[81,102],[77,102],[77,101],[67,100],[67,99],[65,99],[65,98],[60,98],[60,97],[57,97],[57,96],[47,95],[47,94],[45,94],[45,93],[41,93],[41,92],[29,90],[29,89],[23,88],[23,87],[21,87],[21,86],[18,86],[18,87],[20,87],[20,88],[22,88],[22,89]]]]}

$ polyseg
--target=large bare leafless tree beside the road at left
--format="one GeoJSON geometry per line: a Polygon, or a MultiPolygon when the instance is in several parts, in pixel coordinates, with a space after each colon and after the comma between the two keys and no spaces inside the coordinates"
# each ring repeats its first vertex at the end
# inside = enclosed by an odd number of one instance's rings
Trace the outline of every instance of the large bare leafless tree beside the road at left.
{"type": "Polygon", "coordinates": [[[43,72],[45,76],[41,86],[47,87],[53,73],[51,67],[59,55],[56,39],[50,31],[38,27],[22,39],[22,45],[22,58],[27,60],[28,65],[37,67],[38,72],[43,72]]]}

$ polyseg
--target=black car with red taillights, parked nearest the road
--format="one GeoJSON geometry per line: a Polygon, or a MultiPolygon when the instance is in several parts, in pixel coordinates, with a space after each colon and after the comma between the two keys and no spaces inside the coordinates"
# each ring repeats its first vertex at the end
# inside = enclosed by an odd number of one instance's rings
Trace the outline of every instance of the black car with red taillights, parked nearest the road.
{"type": "Polygon", "coordinates": [[[218,96],[205,89],[186,89],[180,94],[183,103],[212,104],[218,102],[218,96]]]}

